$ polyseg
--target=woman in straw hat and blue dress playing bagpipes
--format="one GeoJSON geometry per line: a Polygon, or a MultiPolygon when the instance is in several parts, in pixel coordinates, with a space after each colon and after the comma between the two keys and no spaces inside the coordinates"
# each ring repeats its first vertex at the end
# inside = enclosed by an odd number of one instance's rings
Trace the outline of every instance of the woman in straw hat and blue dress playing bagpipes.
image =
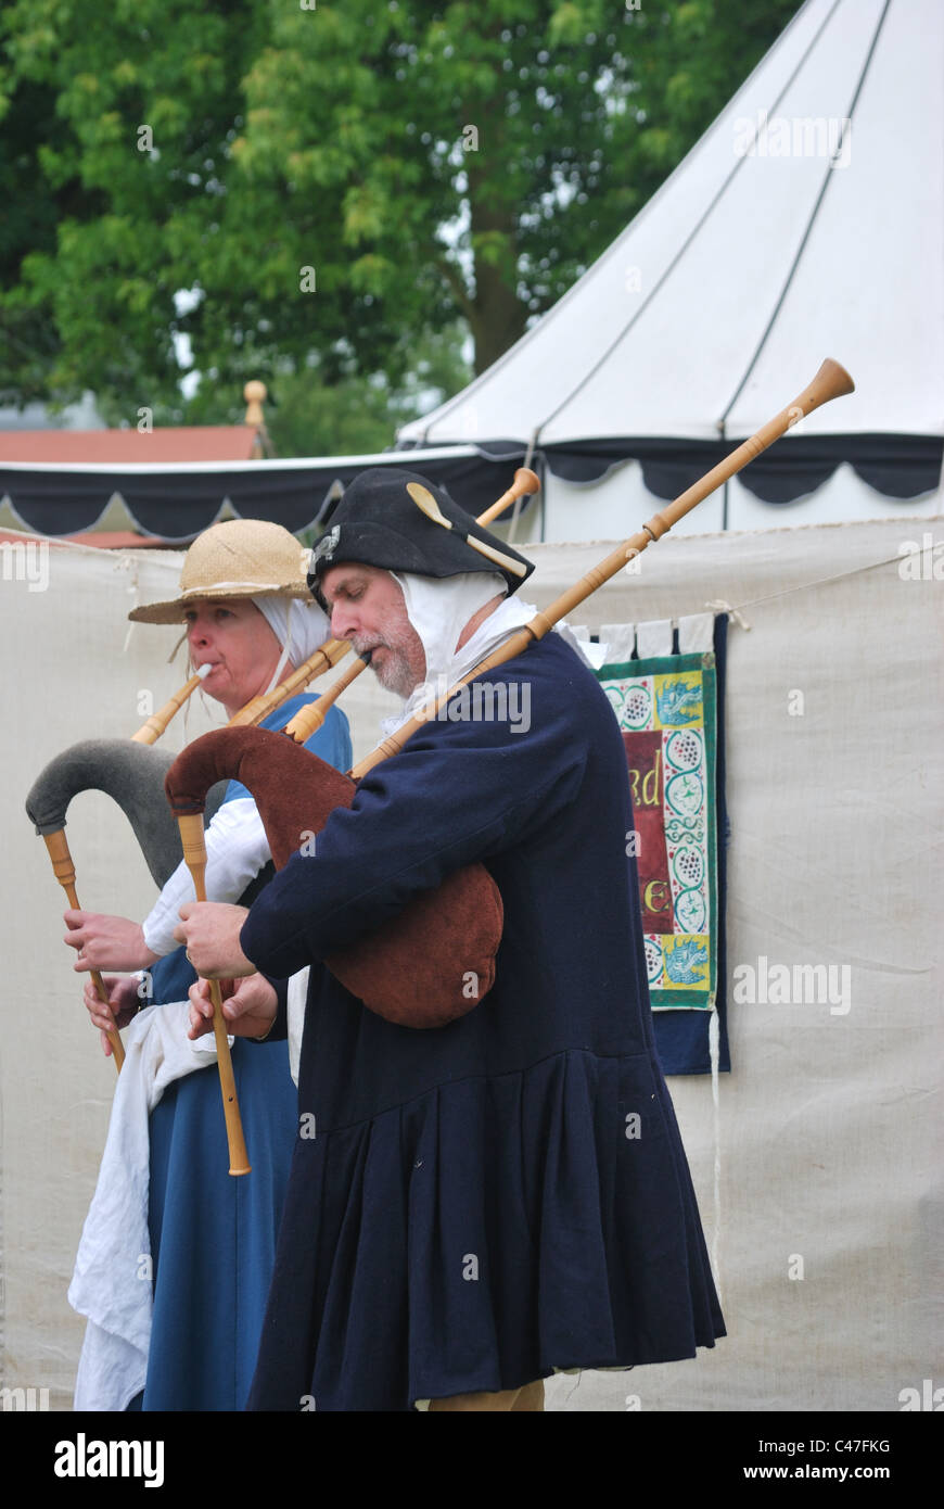
{"type": "MultiPolygon", "coordinates": [[[[185,625],[195,668],[211,667],[202,690],[232,717],[327,638],[327,617],[312,602],[300,563],[297,540],[280,525],[217,524],[192,545],[179,596],[130,617],[185,625]]],[[[311,700],[288,699],[261,726],[284,727],[311,700]]],[[[344,714],[332,708],[308,747],[347,770],[344,714]]],[[[157,800],[164,801],[160,788],[157,800]]],[[[216,901],[252,899],[271,875],[255,801],[235,782],[208,828],[207,850],[207,893],[216,901]]],[[[89,1316],[77,1408],[240,1409],[252,1379],[297,1132],[296,1086],[285,1043],[234,1043],[252,1174],[231,1179],[216,1055],[195,1053],[185,1040],[184,1002],[196,973],[173,927],[193,896],[181,862],[140,925],[65,914],[77,970],[145,972],[143,979],[125,973],[106,981],[110,1008],[92,984],[84,991],[106,1053],[112,1019],[131,1026],[69,1290],[89,1316]]]]}

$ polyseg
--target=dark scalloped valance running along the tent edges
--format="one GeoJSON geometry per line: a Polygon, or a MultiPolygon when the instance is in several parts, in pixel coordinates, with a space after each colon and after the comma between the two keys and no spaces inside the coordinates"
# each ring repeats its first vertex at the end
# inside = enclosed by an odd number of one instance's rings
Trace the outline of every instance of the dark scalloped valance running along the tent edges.
{"type": "MultiPolygon", "coordinates": [[[[590,486],[638,460],[647,489],[674,498],[727,456],[736,441],[587,441],[552,447],[531,465],[573,484],[590,486]]],[[[944,441],[936,436],[787,436],[740,474],[768,504],[789,504],[820,487],[847,462],[870,487],[891,499],[930,492],[941,474],[944,441]]],[[[472,513],[505,490],[525,448],[437,447],[409,450],[410,466],[446,486],[472,513]]],[[[403,466],[406,453],[341,456],[300,462],[192,466],[29,466],[0,465],[0,502],[36,534],[93,530],[112,501],[122,499],[142,533],[184,545],[229,507],[243,518],[273,519],[294,534],[326,522],[342,489],[366,466],[403,466]]],[[[576,521],[575,521],[576,522],[576,521]]]]}

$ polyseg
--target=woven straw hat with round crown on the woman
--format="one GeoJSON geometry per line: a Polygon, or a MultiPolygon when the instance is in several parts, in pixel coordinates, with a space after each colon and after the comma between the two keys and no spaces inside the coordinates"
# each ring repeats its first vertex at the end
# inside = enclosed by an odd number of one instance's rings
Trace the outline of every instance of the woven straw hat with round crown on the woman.
{"type": "Polygon", "coordinates": [[[134,608],[128,617],[134,623],[179,623],[201,598],[300,598],[311,602],[309,554],[280,524],[265,519],[214,524],[187,551],[179,598],[134,608]]]}

